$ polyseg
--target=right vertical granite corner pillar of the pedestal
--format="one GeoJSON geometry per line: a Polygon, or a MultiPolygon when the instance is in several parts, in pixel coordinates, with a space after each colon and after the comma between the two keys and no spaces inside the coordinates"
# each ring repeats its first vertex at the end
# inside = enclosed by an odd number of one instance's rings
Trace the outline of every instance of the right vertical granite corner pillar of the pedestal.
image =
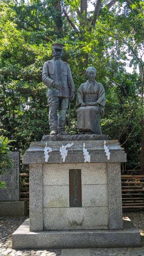
{"type": "Polygon", "coordinates": [[[109,229],[122,229],[121,166],[108,164],[109,229]]]}

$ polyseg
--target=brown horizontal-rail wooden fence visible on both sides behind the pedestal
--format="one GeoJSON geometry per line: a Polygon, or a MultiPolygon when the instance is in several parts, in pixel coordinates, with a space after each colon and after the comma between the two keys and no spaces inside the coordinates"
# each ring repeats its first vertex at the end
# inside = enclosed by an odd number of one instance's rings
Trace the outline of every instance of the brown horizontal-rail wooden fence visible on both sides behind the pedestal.
{"type": "MultiPolygon", "coordinates": [[[[29,174],[20,174],[21,200],[29,209],[29,174]]],[[[144,208],[144,175],[121,175],[122,208],[144,208]]]]}

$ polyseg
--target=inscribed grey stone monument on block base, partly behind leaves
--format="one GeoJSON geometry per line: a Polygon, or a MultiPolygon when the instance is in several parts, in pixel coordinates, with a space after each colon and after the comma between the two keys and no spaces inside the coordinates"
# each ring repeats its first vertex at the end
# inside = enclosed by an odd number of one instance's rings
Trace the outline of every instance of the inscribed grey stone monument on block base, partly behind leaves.
{"type": "Polygon", "coordinates": [[[19,152],[11,152],[9,157],[14,160],[14,166],[10,173],[0,175],[0,181],[5,181],[7,186],[7,189],[0,189],[0,216],[26,216],[27,202],[19,201],[19,152]]]}

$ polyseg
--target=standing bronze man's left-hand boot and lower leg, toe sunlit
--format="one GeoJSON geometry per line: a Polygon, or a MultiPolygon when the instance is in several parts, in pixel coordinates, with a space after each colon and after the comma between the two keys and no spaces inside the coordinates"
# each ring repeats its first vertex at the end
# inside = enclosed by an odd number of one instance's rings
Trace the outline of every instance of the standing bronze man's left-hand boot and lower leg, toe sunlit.
{"type": "Polygon", "coordinates": [[[57,134],[57,127],[58,127],[58,116],[57,116],[57,107],[50,107],[49,108],[49,128],[50,128],[50,135],[57,134]]]}

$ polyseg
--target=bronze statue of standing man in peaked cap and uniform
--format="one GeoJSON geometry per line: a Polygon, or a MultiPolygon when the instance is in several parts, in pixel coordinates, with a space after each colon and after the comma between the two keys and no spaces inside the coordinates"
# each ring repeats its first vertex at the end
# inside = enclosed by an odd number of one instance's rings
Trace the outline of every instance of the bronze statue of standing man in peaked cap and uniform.
{"type": "Polygon", "coordinates": [[[69,65],[61,60],[64,45],[54,43],[52,46],[54,59],[46,61],[42,71],[42,81],[47,86],[50,135],[67,135],[66,113],[69,100],[74,99],[75,86],[69,65]]]}

